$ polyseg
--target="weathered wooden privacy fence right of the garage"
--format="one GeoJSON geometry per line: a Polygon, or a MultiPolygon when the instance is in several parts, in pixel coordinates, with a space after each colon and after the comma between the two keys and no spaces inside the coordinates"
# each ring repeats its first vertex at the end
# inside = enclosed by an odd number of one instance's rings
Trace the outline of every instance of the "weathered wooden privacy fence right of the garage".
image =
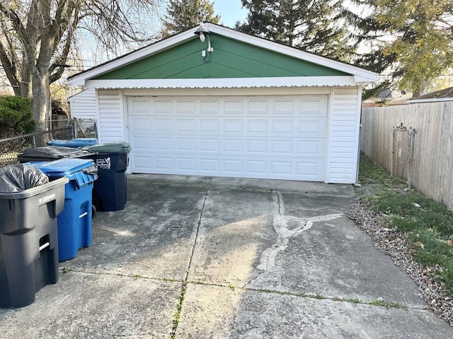
{"type": "Polygon", "coordinates": [[[391,171],[396,126],[413,127],[412,186],[453,210],[453,102],[430,102],[362,111],[360,149],[391,171]]]}

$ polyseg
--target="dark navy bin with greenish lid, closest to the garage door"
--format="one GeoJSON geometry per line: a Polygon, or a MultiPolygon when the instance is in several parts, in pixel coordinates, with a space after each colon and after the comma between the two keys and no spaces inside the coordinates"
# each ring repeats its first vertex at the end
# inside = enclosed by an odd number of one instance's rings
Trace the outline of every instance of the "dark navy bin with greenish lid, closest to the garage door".
{"type": "Polygon", "coordinates": [[[98,165],[98,180],[93,186],[93,205],[98,210],[123,210],[126,204],[126,169],[129,165],[130,145],[125,142],[100,143],[85,150],[98,165]]]}

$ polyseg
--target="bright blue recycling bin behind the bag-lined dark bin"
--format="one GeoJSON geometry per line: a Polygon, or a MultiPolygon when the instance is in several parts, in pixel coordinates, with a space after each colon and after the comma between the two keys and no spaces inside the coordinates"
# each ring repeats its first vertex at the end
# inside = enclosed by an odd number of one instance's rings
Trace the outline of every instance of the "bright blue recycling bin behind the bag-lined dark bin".
{"type": "Polygon", "coordinates": [[[58,261],[75,258],[82,247],[91,245],[92,191],[98,178],[94,162],[88,159],[61,159],[30,163],[50,179],[67,177],[64,208],[57,218],[58,261]],[[85,171],[85,172],[84,172],[85,171]]]}

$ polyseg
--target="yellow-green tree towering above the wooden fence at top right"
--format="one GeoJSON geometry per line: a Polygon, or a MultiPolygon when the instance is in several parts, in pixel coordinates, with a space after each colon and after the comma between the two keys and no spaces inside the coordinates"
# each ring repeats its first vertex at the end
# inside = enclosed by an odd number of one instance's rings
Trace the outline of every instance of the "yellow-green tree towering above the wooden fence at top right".
{"type": "Polygon", "coordinates": [[[451,0],[355,0],[367,15],[350,13],[357,40],[367,46],[360,64],[388,79],[372,94],[396,83],[420,95],[423,83],[453,66],[451,0]]]}

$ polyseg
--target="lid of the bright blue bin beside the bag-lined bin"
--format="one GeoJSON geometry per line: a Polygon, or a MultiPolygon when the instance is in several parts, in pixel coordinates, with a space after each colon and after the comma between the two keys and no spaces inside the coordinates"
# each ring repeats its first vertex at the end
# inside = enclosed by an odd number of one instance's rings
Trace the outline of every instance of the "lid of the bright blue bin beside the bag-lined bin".
{"type": "Polygon", "coordinates": [[[89,159],[60,159],[50,162],[30,162],[28,165],[39,168],[49,177],[67,177],[75,180],[79,186],[94,182],[98,179],[96,174],[81,172],[83,169],[94,165],[93,160],[89,159]]]}

